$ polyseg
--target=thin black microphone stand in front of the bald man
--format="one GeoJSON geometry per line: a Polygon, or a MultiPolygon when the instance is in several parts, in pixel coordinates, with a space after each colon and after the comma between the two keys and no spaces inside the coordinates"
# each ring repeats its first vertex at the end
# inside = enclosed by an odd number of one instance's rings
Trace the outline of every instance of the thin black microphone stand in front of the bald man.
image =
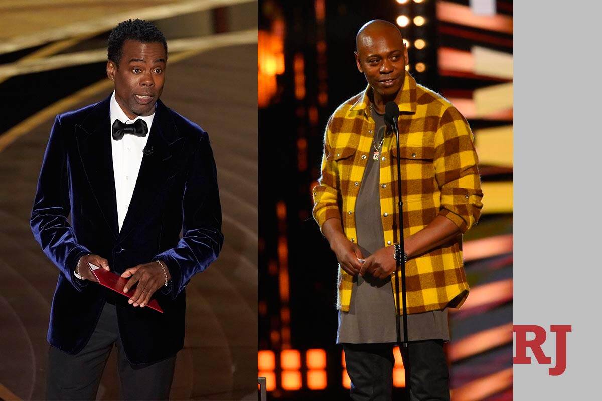
{"type": "Polygon", "coordinates": [[[397,332],[397,344],[400,346],[400,352],[403,356],[403,367],[406,379],[406,400],[410,399],[410,381],[409,381],[409,349],[408,349],[408,305],[406,301],[406,260],[405,251],[403,246],[403,202],[402,202],[402,165],[401,165],[401,153],[399,150],[399,127],[397,127],[397,117],[393,117],[391,121],[391,127],[395,132],[397,139],[397,204],[399,206],[399,213],[397,214],[397,224],[399,224],[399,245],[402,248],[404,255],[397,260],[397,266],[395,269],[395,290],[397,292],[397,311],[396,311],[396,332],[397,332]],[[402,308],[400,308],[399,302],[399,272],[402,273],[402,308]],[[402,314],[403,311],[403,314],[402,314]],[[399,316],[402,314],[403,320],[403,342],[401,341],[401,334],[399,332],[399,316]],[[403,346],[403,347],[402,347],[403,346]]]}

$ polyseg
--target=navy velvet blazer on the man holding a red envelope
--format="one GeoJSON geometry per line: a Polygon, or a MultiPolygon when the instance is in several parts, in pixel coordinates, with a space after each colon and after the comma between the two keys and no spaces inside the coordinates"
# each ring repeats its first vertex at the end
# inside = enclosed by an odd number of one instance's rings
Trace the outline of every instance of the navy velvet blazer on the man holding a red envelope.
{"type": "Polygon", "coordinates": [[[207,133],[159,101],[147,142],[153,152],[143,157],[119,231],[109,106],[110,97],[58,115],[40,171],[31,230],[59,269],[48,341],[77,354],[111,297],[128,360],[152,363],[182,348],[184,287],[222,248],[216,165],[207,133]],[[75,278],[79,257],[88,253],[108,259],[119,274],[164,260],[172,285],[153,297],[164,313],[132,307],[125,296],[75,278]]]}

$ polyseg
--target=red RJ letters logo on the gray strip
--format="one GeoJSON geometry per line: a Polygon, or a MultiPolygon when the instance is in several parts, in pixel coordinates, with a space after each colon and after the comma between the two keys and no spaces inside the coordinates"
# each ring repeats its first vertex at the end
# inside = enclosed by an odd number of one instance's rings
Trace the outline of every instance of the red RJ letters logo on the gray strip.
{"type": "MultiPolygon", "coordinates": [[[[553,325],[550,331],[556,333],[556,366],[548,370],[550,376],[560,376],[566,369],[566,333],[571,331],[571,325],[553,325]]],[[[515,325],[515,364],[530,364],[531,358],[527,357],[527,347],[529,347],[535,359],[539,364],[551,364],[552,358],[546,357],[541,345],[545,343],[546,332],[541,326],[536,325],[515,325]],[[533,340],[527,340],[527,332],[535,334],[533,340]]]]}

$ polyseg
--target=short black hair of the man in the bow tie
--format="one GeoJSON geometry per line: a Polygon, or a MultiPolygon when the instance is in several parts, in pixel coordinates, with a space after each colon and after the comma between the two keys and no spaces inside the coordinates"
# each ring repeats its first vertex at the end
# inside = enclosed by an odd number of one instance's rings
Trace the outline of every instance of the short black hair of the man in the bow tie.
{"type": "Polygon", "coordinates": [[[154,23],[143,19],[128,19],[120,22],[109,34],[107,44],[108,59],[119,67],[123,55],[123,43],[132,39],[142,43],[158,42],[163,44],[167,58],[167,41],[154,23]]]}

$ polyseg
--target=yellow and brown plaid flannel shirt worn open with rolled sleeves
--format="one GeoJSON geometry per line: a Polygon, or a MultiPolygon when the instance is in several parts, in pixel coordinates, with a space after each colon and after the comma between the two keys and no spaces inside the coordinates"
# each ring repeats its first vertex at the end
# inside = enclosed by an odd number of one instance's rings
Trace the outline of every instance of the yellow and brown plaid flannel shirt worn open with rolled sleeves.
{"type": "MultiPolygon", "coordinates": [[[[374,120],[370,117],[368,85],[340,105],[324,133],[321,176],[314,187],[315,220],[341,219],[347,238],[354,242],[355,201],[371,158],[374,120]]],[[[443,215],[468,230],[479,219],[480,189],[473,134],[467,121],[442,96],[418,85],[406,73],[399,105],[402,167],[403,235],[408,237],[443,215]]],[[[383,246],[397,239],[397,146],[385,136],[380,153],[380,210],[383,246]]],[[[394,289],[394,280],[392,286],[394,289]]],[[[337,308],[349,311],[353,277],[338,269],[337,308]]],[[[462,263],[462,236],[413,257],[406,263],[408,313],[460,307],[468,296],[462,263]]],[[[396,294],[397,296],[397,294],[396,294]]]]}

